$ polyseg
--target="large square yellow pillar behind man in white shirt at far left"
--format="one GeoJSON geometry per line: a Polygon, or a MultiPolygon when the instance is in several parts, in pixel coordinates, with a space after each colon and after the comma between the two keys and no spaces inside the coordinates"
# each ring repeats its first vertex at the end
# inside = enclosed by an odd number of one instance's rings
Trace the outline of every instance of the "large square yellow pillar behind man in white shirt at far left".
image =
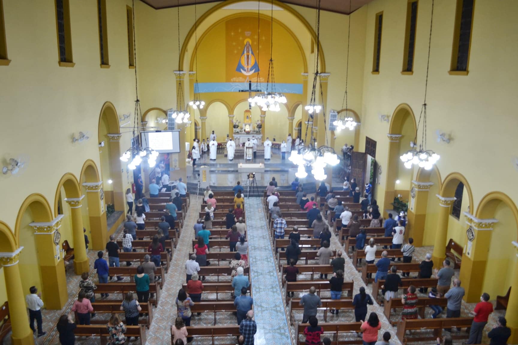
{"type": "Polygon", "coordinates": [[[59,232],[62,218],[63,215],[59,215],[50,222],[29,224],[34,228],[36,253],[41,273],[41,293],[47,309],[62,309],[68,299],[59,232]]]}

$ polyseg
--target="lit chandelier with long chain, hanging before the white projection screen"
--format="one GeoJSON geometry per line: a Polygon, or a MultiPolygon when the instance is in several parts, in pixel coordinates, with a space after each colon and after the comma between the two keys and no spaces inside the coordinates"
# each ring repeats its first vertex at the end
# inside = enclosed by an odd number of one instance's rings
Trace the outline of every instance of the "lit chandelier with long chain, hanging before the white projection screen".
{"type": "Polygon", "coordinates": [[[154,151],[151,147],[148,146],[146,136],[143,136],[144,142],[142,143],[140,136],[140,125],[143,127],[144,123],[142,121],[142,111],[140,110],[140,100],[138,99],[138,83],[137,83],[137,44],[135,40],[135,0],[132,1],[133,8],[133,57],[135,62],[135,110],[134,110],[134,119],[133,119],[133,137],[137,136],[138,144],[137,146],[132,146],[126,150],[120,157],[120,160],[123,162],[127,162],[132,158],[130,164],[128,164],[128,169],[134,170],[137,166],[140,165],[142,161],[147,161],[150,167],[154,167],[156,164],[156,157],[159,156],[159,153],[154,151]]]}

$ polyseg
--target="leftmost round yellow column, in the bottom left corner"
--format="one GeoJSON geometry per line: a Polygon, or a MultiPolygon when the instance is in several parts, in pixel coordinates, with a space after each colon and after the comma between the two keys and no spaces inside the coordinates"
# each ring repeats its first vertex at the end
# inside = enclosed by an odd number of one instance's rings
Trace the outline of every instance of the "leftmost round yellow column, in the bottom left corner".
{"type": "Polygon", "coordinates": [[[18,258],[23,247],[15,252],[0,253],[0,264],[4,267],[5,288],[9,301],[9,316],[11,319],[11,339],[13,345],[34,345],[34,335],[27,322],[27,307],[25,296],[28,291],[22,290],[18,258]]]}

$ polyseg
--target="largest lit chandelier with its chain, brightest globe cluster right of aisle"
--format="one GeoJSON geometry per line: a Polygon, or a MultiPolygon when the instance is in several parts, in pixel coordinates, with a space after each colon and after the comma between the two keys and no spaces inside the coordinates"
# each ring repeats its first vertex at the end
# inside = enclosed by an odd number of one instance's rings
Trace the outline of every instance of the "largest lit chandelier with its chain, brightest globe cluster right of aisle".
{"type": "MultiPolygon", "coordinates": [[[[308,146],[298,147],[297,150],[291,152],[289,160],[291,160],[294,164],[298,166],[297,172],[295,176],[299,178],[304,178],[308,176],[307,169],[311,168],[311,174],[313,177],[319,181],[323,181],[327,178],[325,174],[324,168],[326,166],[336,166],[340,162],[338,156],[335,153],[333,147],[327,146],[327,124],[326,118],[324,116],[324,132],[325,132],[325,141],[326,145],[316,146],[316,139],[313,138],[313,118],[314,114],[318,114],[321,110],[323,110],[323,106],[320,104],[316,104],[316,82],[319,76],[319,56],[320,56],[320,1],[318,1],[318,8],[316,10],[316,68],[315,68],[315,77],[313,79],[313,89],[311,91],[311,101],[308,106],[306,106],[306,110],[309,113],[309,119],[311,120],[311,137],[308,146]]],[[[322,94],[322,85],[320,85],[320,96],[323,100],[322,94]]],[[[325,112],[325,110],[324,110],[325,112]]],[[[304,141],[306,141],[308,137],[308,127],[306,127],[306,134],[304,137],[304,141]]]]}

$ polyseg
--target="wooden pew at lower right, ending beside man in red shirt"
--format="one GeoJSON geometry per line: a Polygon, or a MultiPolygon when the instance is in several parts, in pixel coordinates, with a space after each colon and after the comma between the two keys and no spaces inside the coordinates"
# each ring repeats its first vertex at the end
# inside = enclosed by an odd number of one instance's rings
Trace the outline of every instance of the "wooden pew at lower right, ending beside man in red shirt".
{"type": "Polygon", "coordinates": [[[467,327],[467,333],[451,335],[452,339],[463,339],[469,337],[469,327],[471,327],[473,318],[448,318],[448,319],[415,319],[401,320],[397,323],[396,336],[401,343],[406,344],[414,341],[436,341],[438,337],[442,337],[443,328],[467,327]],[[433,335],[415,336],[419,331],[433,330],[433,335]],[[406,331],[413,331],[412,336],[406,334],[406,331]]]}

